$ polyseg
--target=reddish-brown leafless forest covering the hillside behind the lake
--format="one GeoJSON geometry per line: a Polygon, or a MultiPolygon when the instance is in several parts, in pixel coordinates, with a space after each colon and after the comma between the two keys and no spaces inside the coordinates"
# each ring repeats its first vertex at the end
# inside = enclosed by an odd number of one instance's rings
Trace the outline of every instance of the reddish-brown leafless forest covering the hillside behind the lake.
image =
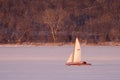
{"type": "Polygon", "coordinates": [[[120,0],[0,0],[0,43],[120,42],[120,0]]]}

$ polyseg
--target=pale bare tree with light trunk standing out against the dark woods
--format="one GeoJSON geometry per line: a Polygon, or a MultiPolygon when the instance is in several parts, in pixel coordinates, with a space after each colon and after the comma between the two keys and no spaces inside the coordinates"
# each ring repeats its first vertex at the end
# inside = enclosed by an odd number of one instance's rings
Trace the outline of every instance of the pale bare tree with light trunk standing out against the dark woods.
{"type": "Polygon", "coordinates": [[[62,19],[65,14],[66,13],[62,9],[46,9],[44,11],[43,21],[50,28],[54,42],[57,41],[57,31],[62,25],[62,19]]]}

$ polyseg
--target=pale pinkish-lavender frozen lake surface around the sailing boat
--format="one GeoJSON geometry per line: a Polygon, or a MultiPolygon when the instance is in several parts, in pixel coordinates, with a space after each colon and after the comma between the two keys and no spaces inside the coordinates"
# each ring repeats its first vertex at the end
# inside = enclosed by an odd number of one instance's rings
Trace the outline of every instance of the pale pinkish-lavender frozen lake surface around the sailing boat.
{"type": "Polygon", "coordinates": [[[73,46],[0,47],[0,80],[120,80],[119,46],[82,46],[92,66],[66,66],[73,46]]]}

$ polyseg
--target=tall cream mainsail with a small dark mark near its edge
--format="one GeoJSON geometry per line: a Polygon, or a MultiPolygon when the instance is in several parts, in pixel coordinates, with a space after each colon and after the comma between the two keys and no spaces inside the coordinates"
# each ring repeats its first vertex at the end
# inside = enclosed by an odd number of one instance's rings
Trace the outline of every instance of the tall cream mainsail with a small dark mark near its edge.
{"type": "Polygon", "coordinates": [[[80,63],[81,61],[81,47],[78,38],[75,41],[75,49],[74,49],[74,63],[80,63]]]}

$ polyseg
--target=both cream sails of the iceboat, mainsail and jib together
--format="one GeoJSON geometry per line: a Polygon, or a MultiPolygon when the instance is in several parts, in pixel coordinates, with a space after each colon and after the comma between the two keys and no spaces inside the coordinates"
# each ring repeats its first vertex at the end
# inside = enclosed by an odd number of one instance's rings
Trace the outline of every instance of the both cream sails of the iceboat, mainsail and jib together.
{"type": "Polygon", "coordinates": [[[78,38],[75,41],[74,53],[70,55],[67,63],[80,63],[81,61],[81,48],[78,38]]]}

